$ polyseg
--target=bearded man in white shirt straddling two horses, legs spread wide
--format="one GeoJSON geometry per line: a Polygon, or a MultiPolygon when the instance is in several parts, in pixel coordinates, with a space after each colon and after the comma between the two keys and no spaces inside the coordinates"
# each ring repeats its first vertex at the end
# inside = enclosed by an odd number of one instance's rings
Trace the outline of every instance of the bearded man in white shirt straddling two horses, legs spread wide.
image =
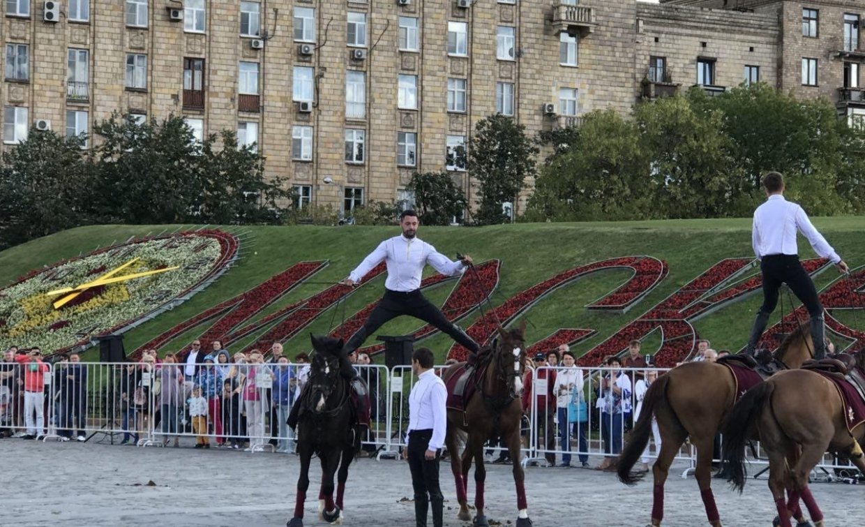
{"type": "Polygon", "coordinates": [[[458,325],[448,321],[439,308],[427,300],[420,292],[420,280],[426,264],[435,267],[439,273],[453,276],[465,271],[471,264],[471,257],[452,261],[440,254],[435,247],[420,241],[418,232],[418,215],[413,210],[406,210],[400,215],[402,235],[382,241],[375,251],[370,253],[361,265],[349,274],[349,278],[340,282],[345,286],[355,286],[366,273],[382,261],[388,262],[388,280],[385,281],[385,292],[379,305],[369,314],[361,329],[357,330],[345,344],[345,350],[350,355],[359,348],[363,341],[375,333],[382,325],[400,315],[411,315],[420,318],[450,335],[462,344],[472,354],[477,353],[479,346],[458,325]]]}

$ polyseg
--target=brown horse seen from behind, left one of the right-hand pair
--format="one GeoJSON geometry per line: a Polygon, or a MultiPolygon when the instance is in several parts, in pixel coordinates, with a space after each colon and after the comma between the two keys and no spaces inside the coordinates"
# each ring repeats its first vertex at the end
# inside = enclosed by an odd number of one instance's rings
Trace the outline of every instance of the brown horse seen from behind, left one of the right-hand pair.
{"type": "MultiPolygon", "coordinates": [[[[814,349],[811,329],[800,325],[781,343],[774,357],[787,368],[802,366],[814,349]]],[[[685,363],[659,376],[646,392],[643,411],[618,458],[618,479],[636,485],[643,474],[631,472],[649,442],[651,421],[657,419],[661,452],[652,468],[655,479],[651,525],[663,519],[663,485],[676,453],[690,438],[697,451],[695,477],[706,508],[708,523],[721,527],[712,494],[712,451],[721,422],[736,402],[736,381],[726,366],[717,363],[685,363]]]]}

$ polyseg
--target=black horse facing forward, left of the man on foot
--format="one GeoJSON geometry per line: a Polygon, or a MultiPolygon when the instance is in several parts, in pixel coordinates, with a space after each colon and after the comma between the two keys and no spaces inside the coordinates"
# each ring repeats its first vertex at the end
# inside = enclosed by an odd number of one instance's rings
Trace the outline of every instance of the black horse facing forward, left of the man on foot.
{"type": "Polygon", "coordinates": [[[343,496],[349,465],[360,452],[361,436],[356,433],[355,417],[349,395],[349,381],[340,376],[343,340],[311,336],[315,353],[310,361],[310,376],[305,408],[298,419],[300,476],[294,517],[288,527],[303,527],[304,501],[310,486],[310,461],[317,454],[322,465],[319,512],[329,524],[343,523],[343,496]],[[333,498],[334,474],[337,477],[336,502],[333,498]],[[321,501],[324,503],[321,503],[321,501]]]}

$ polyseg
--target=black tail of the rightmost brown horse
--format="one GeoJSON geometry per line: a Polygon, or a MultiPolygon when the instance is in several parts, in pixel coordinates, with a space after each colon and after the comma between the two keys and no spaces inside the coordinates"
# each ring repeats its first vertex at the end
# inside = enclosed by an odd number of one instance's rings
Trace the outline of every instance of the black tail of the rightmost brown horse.
{"type": "Polygon", "coordinates": [[[730,485],[740,493],[745,488],[747,472],[745,468],[745,446],[753,437],[756,420],[766,407],[766,402],[771,402],[770,397],[775,391],[772,382],[760,382],[757,386],[749,389],[736,402],[727,421],[724,424],[722,434],[724,443],[721,447],[724,462],[727,464],[727,478],[730,485]]]}

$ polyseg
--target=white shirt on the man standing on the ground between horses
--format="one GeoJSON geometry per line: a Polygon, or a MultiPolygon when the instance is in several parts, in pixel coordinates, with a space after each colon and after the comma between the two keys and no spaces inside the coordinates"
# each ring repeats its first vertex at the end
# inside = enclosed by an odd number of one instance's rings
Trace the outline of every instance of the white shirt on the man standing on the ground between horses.
{"type": "Polygon", "coordinates": [[[438,450],[445,444],[446,404],[445,382],[435,374],[435,370],[421,373],[418,382],[414,383],[412,393],[408,395],[407,433],[432,428],[432,439],[426,447],[427,450],[438,450]]]}

